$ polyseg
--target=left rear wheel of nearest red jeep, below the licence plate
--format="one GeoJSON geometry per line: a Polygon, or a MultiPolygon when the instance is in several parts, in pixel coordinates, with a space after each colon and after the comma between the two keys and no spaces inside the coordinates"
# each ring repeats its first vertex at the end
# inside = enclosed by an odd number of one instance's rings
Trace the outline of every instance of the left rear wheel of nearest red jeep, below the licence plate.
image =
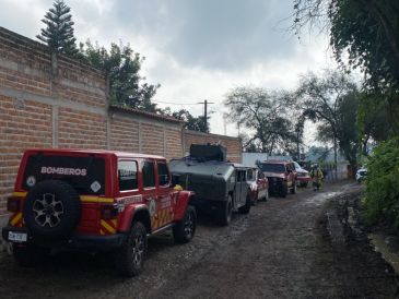
{"type": "Polygon", "coordinates": [[[20,266],[33,267],[42,264],[48,254],[50,249],[37,247],[35,244],[13,244],[12,254],[20,266]]]}

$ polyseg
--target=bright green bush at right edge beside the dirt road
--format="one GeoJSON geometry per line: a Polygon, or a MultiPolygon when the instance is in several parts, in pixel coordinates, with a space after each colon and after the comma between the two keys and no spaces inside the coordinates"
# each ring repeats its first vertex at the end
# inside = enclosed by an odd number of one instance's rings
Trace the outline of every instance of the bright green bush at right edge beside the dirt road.
{"type": "Polygon", "coordinates": [[[399,228],[399,139],[379,144],[367,163],[366,218],[399,228]]]}

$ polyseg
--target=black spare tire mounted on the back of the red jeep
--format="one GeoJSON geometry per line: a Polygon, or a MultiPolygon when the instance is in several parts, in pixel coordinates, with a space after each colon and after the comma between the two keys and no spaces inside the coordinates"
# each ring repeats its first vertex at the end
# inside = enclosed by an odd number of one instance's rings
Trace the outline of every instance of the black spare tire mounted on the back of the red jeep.
{"type": "Polygon", "coordinates": [[[81,202],[69,183],[46,180],[31,189],[23,213],[33,235],[58,239],[68,236],[78,225],[81,202]]]}

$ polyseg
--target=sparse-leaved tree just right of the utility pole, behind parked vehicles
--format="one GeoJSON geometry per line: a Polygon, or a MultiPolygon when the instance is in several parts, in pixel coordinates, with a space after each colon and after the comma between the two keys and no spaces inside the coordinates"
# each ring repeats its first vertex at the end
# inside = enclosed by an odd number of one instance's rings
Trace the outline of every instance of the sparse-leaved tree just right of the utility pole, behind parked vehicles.
{"type": "Polygon", "coordinates": [[[272,154],[275,151],[296,152],[293,99],[284,93],[265,88],[237,87],[225,99],[227,117],[253,132],[244,148],[272,154]]]}

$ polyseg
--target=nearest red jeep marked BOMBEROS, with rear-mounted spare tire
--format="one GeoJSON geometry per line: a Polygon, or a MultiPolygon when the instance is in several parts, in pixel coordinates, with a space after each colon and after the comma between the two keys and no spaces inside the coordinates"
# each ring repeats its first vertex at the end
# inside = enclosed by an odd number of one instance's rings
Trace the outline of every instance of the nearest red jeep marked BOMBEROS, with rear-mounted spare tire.
{"type": "Polygon", "coordinates": [[[133,276],[142,270],[148,236],[172,228],[176,242],[193,237],[192,196],[172,186],[161,156],[30,150],[8,200],[12,215],[2,236],[21,265],[55,248],[113,251],[118,272],[133,276]]]}

